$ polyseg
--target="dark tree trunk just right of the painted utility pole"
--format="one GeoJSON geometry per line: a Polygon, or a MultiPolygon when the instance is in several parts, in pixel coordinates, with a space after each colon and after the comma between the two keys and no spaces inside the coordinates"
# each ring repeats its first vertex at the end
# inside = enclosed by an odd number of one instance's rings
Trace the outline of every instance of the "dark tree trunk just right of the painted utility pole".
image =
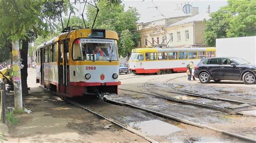
{"type": "Polygon", "coordinates": [[[22,65],[24,67],[21,69],[21,78],[22,78],[22,95],[29,95],[28,91],[28,49],[29,49],[29,40],[22,40],[22,49],[21,49],[21,58],[22,65]]]}

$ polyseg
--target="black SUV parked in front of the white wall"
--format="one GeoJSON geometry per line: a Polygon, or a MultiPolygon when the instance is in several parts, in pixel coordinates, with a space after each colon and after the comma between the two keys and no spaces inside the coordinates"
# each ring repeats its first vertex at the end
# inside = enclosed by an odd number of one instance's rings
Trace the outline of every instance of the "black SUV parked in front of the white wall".
{"type": "Polygon", "coordinates": [[[194,76],[199,78],[201,83],[208,83],[210,80],[215,82],[236,80],[244,81],[245,84],[254,84],[255,73],[255,65],[250,65],[250,62],[244,59],[233,57],[202,59],[194,67],[194,76]]]}

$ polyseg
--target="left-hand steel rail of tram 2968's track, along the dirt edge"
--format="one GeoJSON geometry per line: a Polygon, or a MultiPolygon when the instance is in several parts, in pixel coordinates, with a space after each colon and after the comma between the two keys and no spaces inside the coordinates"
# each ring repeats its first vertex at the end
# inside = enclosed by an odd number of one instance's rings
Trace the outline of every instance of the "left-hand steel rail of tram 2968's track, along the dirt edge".
{"type": "Polygon", "coordinates": [[[109,117],[106,117],[106,116],[104,116],[104,115],[102,115],[102,114],[100,114],[100,113],[97,113],[96,111],[93,111],[92,109],[87,108],[86,106],[83,106],[82,104],[79,104],[79,103],[77,103],[77,102],[70,101],[69,99],[66,99],[66,98],[64,98],[64,97],[61,96],[61,95],[57,95],[56,92],[53,92],[53,93],[54,93],[56,96],[62,98],[65,102],[68,102],[68,103],[70,103],[70,104],[76,105],[76,106],[78,106],[79,108],[82,108],[82,109],[84,109],[84,110],[86,110],[86,111],[89,111],[89,112],[91,112],[91,113],[93,113],[93,114],[99,116],[99,117],[102,117],[102,118],[104,118],[104,119],[110,121],[111,123],[113,123],[113,124],[115,124],[115,125],[117,125],[117,126],[119,126],[119,127],[122,127],[122,128],[124,128],[125,130],[127,130],[127,131],[129,131],[129,132],[131,132],[131,133],[134,133],[134,134],[136,134],[136,135],[138,135],[138,136],[140,136],[140,137],[142,137],[142,138],[144,138],[145,140],[147,140],[147,141],[149,141],[149,142],[158,142],[158,141],[156,141],[156,140],[154,140],[154,139],[151,139],[151,138],[147,137],[145,134],[143,134],[142,132],[139,132],[139,131],[135,130],[135,129],[132,128],[132,127],[127,127],[127,126],[125,126],[125,125],[122,125],[122,124],[119,123],[118,121],[113,120],[113,119],[111,119],[111,118],[109,118],[109,117]]]}

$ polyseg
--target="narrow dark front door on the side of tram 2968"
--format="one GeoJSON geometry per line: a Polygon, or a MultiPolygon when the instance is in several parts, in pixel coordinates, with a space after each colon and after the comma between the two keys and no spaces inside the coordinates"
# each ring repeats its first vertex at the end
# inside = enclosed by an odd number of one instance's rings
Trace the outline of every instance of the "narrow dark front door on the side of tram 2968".
{"type": "Polygon", "coordinates": [[[58,46],[58,73],[59,73],[59,88],[58,88],[58,92],[62,92],[65,93],[66,92],[66,85],[65,85],[65,81],[66,81],[66,73],[64,71],[66,71],[65,68],[65,54],[64,54],[64,46],[63,46],[63,41],[59,42],[59,46],[58,46]]]}

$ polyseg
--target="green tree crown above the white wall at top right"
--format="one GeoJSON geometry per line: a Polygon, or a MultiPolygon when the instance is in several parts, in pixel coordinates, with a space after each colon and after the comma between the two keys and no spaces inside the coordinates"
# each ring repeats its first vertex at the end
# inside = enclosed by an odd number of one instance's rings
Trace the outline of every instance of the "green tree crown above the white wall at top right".
{"type": "Polygon", "coordinates": [[[205,22],[205,44],[215,46],[215,39],[256,35],[256,1],[229,0],[228,5],[211,13],[205,22]]]}

